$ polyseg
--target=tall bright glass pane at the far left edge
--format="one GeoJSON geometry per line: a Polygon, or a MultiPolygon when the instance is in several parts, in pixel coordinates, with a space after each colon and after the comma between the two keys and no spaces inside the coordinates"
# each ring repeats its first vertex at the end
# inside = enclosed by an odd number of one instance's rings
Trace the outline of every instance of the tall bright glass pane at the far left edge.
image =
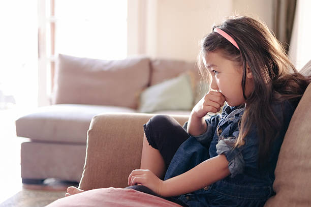
{"type": "Polygon", "coordinates": [[[37,105],[37,1],[0,1],[0,109],[10,102],[18,107],[37,105]],[[14,101],[12,96],[14,97],[14,101]]]}

